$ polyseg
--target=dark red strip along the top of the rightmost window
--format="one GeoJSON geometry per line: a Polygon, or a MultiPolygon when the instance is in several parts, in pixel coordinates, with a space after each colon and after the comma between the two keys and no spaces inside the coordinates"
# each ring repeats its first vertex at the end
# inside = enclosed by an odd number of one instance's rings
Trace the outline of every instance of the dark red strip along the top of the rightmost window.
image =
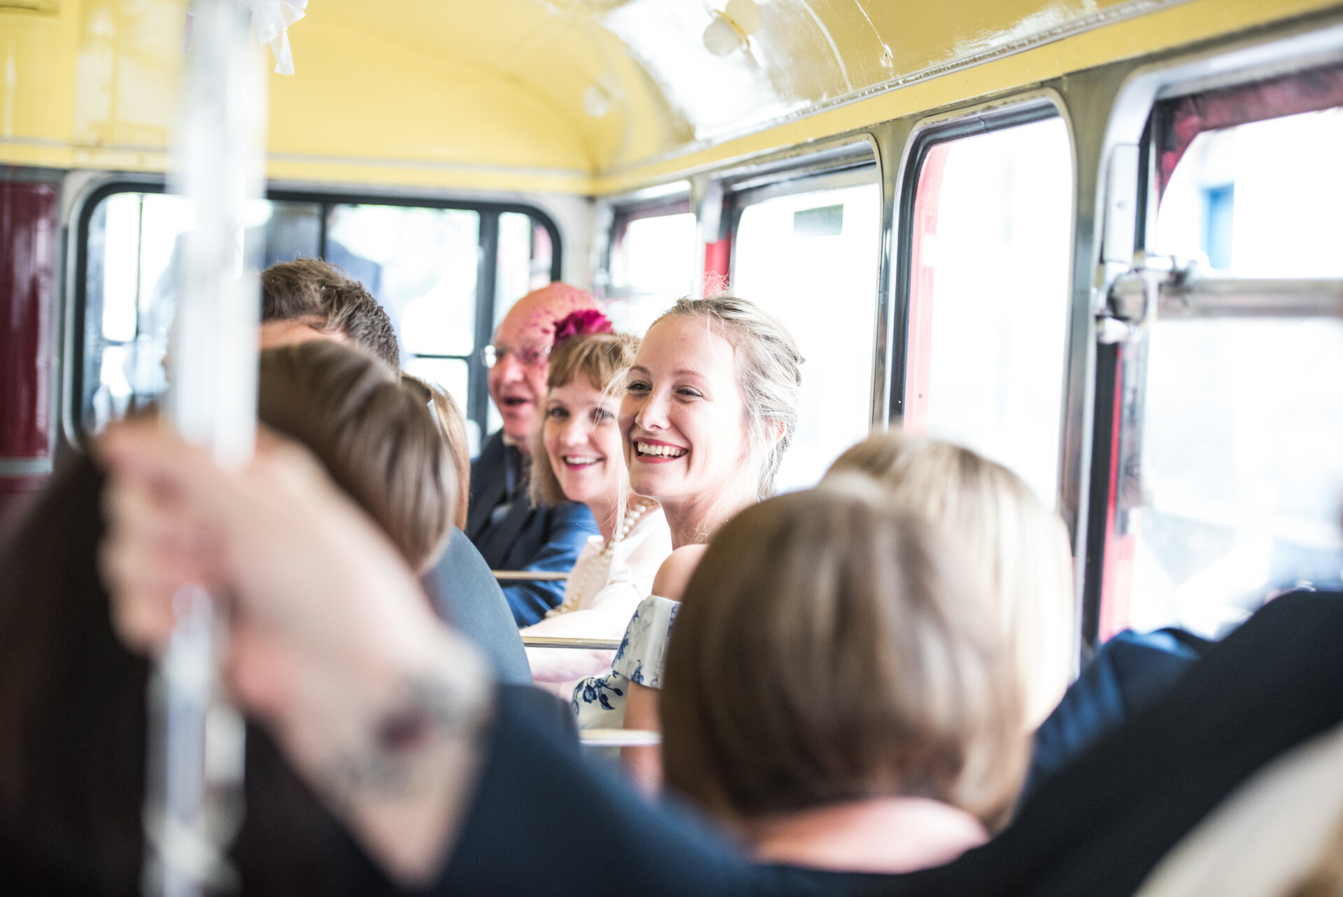
{"type": "Polygon", "coordinates": [[[1190,94],[1171,101],[1160,153],[1162,192],[1194,138],[1205,130],[1343,106],[1343,66],[1190,94]]]}

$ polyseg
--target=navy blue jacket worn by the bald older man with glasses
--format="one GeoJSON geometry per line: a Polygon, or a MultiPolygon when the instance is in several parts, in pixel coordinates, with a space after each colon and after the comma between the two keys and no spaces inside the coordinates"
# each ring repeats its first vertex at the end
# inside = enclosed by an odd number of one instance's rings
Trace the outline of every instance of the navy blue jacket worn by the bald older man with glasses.
{"type": "MultiPolygon", "coordinates": [[[[587,505],[564,502],[553,508],[532,508],[524,473],[509,483],[509,453],[504,432],[485,442],[481,455],[471,462],[471,500],[466,516],[466,534],[479,549],[490,569],[530,569],[568,573],[577,563],[588,536],[596,536],[596,521],[587,505]],[[496,508],[509,501],[512,506],[498,522],[490,517],[496,508]]],[[[536,623],[564,600],[564,583],[508,583],[504,585],[513,619],[518,626],[536,623]]]]}

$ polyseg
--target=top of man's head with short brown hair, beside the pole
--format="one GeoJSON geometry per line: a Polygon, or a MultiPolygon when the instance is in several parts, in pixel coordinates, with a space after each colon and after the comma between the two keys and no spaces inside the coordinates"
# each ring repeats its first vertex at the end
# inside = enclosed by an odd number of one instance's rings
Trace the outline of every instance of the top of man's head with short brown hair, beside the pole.
{"type": "Polygon", "coordinates": [[[261,273],[261,348],[308,340],[353,342],[400,369],[396,330],[359,281],[321,259],[294,259],[261,273]]]}

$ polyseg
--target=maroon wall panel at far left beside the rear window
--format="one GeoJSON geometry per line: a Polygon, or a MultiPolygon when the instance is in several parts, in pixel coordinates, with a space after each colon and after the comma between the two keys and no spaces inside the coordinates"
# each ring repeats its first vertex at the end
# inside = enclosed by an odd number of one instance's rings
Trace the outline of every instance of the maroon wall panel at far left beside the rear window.
{"type": "Polygon", "coordinates": [[[0,181],[0,457],[51,455],[59,187],[0,181]]]}

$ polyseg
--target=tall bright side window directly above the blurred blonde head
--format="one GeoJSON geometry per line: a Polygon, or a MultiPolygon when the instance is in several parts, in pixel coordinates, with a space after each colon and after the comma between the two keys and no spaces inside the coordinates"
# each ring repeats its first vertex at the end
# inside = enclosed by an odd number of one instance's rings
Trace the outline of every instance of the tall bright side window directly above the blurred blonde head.
{"type": "Polygon", "coordinates": [[[1058,490],[1072,172],[1057,117],[937,142],[909,223],[902,426],[1010,467],[1046,505],[1058,490]]]}

